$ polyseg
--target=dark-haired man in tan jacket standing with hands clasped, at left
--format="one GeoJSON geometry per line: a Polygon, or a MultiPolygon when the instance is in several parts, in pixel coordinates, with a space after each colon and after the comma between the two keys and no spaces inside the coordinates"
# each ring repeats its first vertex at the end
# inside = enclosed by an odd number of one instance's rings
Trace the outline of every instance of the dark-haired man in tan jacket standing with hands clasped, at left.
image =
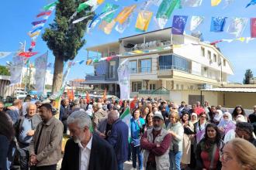
{"type": "Polygon", "coordinates": [[[53,116],[50,104],[40,106],[42,122],[38,124],[33,140],[29,145],[31,169],[56,170],[61,159],[63,124],[53,116]]]}

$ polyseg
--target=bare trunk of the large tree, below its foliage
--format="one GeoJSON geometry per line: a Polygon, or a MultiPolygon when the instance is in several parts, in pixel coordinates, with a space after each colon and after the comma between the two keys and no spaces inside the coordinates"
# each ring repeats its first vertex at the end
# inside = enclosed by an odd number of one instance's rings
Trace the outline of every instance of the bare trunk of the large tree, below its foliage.
{"type": "Polygon", "coordinates": [[[56,93],[57,91],[61,90],[63,66],[64,66],[64,58],[61,56],[55,56],[54,80],[53,80],[53,87],[52,87],[53,93],[56,93]]]}

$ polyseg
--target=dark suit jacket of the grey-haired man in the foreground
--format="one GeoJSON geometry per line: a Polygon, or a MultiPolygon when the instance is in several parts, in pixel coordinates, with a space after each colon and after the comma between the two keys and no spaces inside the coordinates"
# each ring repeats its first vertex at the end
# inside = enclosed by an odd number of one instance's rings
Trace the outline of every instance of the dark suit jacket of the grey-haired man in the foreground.
{"type": "MultiPolygon", "coordinates": [[[[73,139],[69,139],[65,146],[61,170],[80,169],[80,149],[73,139]]],[[[98,134],[92,134],[92,149],[88,170],[111,169],[117,170],[116,155],[111,145],[98,134]]]]}

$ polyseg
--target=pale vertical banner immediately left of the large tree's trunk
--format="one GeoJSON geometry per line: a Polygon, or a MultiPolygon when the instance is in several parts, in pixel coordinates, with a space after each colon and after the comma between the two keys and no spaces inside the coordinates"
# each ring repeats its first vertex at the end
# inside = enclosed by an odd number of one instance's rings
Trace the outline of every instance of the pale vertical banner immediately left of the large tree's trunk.
{"type": "Polygon", "coordinates": [[[38,56],[35,59],[35,87],[38,93],[42,94],[45,84],[45,76],[47,74],[47,56],[48,52],[44,53],[42,56],[38,56]]]}

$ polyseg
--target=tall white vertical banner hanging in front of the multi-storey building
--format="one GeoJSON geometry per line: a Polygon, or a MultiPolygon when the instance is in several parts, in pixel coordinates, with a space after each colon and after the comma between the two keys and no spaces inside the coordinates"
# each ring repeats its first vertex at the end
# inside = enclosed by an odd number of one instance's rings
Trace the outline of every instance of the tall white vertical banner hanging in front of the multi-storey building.
{"type": "Polygon", "coordinates": [[[120,87],[120,99],[121,100],[129,100],[130,99],[130,74],[128,68],[129,61],[128,59],[123,60],[120,63],[117,73],[118,73],[118,81],[120,87]]]}

